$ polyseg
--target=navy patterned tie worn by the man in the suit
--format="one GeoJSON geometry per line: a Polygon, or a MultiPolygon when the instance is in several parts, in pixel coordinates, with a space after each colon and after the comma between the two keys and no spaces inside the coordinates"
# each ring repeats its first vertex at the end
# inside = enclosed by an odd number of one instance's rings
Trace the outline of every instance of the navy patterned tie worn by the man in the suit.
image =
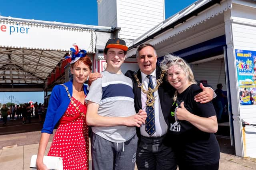
{"type": "MultiPolygon", "coordinates": [[[[147,78],[149,79],[148,88],[154,89],[151,75],[148,75],[147,78]]],[[[154,96],[154,92],[152,95],[154,96]]],[[[145,130],[148,133],[148,135],[151,136],[156,131],[154,106],[146,106],[146,113],[147,113],[147,118],[145,121],[145,124],[146,124],[145,130]]]]}

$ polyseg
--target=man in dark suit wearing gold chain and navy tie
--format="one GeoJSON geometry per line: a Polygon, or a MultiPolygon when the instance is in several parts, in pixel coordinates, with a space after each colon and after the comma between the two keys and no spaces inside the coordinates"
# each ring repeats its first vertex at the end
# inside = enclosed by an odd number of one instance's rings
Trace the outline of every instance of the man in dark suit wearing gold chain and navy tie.
{"type": "MultiPolygon", "coordinates": [[[[137,128],[139,141],[136,164],[138,170],[176,170],[174,152],[165,143],[165,141],[168,143],[168,140],[175,140],[166,139],[168,116],[175,90],[164,81],[166,75],[156,64],[157,54],[153,45],[140,45],[136,57],[140,69],[137,72],[129,70],[125,75],[133,81],[136,112],[143,109],[149,117],[145,125],[137,128]],[[150,124],[149,127],[148,124],[150,124]]],[[[195,100],[202,103],[212,100],[213,90],[205,88],[202,84],[200,87],[203,92],[198,94],[195,100]]]]}

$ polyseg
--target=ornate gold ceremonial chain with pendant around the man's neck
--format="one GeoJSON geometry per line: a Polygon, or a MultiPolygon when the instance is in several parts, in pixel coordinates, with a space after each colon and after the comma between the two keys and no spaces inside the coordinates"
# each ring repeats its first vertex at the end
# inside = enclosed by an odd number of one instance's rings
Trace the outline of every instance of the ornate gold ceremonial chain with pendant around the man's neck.
{"type": "Polygon", "coordinates": [[[161,75],[160,78],[158,80],[156,80],[156,87],[154,89],[152,88],[148,88],[148,91],[146,91],[143,88],[143,84],[140,82],[140,80],[138,79],[137,76],[137,72],[134,72],[134,78],[136,80],[136,82],[138,83],[138,87],[141,88],[141,91],[147,95],[147,101],[146,101],[146,105],[147,106],[153,106],[154,107],[154,102],[155,102],[155,97],[153,96],[153,93],[156,92],[156,90],[158,90],[160,84],[163,82],[163,78],[164,78],[164,74],[165,74],[166,70],[162,70],[161,71],[161,75]]]}

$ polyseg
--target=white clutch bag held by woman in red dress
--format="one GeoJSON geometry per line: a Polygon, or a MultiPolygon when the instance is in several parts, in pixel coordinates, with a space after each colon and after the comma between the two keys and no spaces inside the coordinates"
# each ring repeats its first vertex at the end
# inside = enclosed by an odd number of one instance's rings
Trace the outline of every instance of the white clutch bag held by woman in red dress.
{"type": "MultiPolygon", "coordinates": [[[[30,168],[36,168],[36,158],[37,158],[36,154],[32,155],[31,160],[30,160],[30,168]]],[[[61,157],[44,156],[43,162],[47,166],[48,169],[63,170],[63,163],[62,163],[61,157]]]]}

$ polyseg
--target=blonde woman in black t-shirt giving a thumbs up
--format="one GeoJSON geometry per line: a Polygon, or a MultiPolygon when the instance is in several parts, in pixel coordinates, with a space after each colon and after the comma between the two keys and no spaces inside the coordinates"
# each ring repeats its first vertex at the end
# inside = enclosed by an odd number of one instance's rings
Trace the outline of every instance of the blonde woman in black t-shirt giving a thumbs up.
{"type": "Polygon", "coordinates": [[[202,92],[196,85],[188,64],[173,55],[161,63],[167,81],[176,89],[170,113],[170,144],[180,170],[218,170],[220,148],[214,133],[218,130],[212,102],[197,103],[194,96],[202,92]]]}

